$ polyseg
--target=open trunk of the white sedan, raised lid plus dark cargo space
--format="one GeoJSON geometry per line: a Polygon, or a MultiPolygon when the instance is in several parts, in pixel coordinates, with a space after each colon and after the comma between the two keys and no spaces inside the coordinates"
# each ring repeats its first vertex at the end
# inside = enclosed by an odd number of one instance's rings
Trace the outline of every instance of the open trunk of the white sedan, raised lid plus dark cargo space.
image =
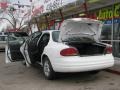
{"type": "Polygon", "coordinates": [[[106,45],[99,43],[103,23],[89,18],[65,20],[60,28],[58,42],[77,48],[81,56],[102,55],[106,45]]]}

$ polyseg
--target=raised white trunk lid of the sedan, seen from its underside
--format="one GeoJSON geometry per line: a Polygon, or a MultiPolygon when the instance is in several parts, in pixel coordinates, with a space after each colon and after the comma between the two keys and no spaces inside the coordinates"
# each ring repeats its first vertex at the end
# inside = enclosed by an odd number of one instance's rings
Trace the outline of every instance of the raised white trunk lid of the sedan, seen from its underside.
{"type": "Polygon", "coordinates": [[[102,22],[89,18],[65,20],[60,27],[59,42],[99,41],[102,22]]]}

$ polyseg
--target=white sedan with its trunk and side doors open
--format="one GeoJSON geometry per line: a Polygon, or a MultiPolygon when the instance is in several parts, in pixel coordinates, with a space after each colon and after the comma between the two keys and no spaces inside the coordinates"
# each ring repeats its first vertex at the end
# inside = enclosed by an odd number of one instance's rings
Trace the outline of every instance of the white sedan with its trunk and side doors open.
{"type": "Polygon", "coordinates": [[[56,72],[98,72],[114,65],[111,45],[99,41],[101,29],[97,20],[68,19],[60,30],[33,33],[21,49],[8,49],[8,56],[11,61],[21,60],[21,50],[26,65],[39,63],[47,79],[54,79],[56,72]]]}

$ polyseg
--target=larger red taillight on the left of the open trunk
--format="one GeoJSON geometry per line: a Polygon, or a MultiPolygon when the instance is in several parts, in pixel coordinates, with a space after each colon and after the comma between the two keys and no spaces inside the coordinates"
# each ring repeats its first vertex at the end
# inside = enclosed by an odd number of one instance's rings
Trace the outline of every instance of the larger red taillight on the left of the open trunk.
{"type": "Polygon", "coordinates": [[[78,50],[76,48],[66,48],[60,51],[62,56],[76,56],[78,55],[78,50]]]}

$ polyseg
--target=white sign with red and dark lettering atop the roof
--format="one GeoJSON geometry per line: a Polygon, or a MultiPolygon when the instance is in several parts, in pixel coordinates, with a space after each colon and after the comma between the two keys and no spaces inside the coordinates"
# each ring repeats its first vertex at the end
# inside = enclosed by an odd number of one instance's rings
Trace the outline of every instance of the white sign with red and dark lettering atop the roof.
{"type": "MultiPolygon", "coordinates": [[[[40,15],[42,13],[51,12],[52,10],[58,9],[64,5],[75,2],[77,0],[39,0],[34,4],[33,15],[40,15]]],[[[84,0],[80,0],[81,3],[84,0]]]]}

